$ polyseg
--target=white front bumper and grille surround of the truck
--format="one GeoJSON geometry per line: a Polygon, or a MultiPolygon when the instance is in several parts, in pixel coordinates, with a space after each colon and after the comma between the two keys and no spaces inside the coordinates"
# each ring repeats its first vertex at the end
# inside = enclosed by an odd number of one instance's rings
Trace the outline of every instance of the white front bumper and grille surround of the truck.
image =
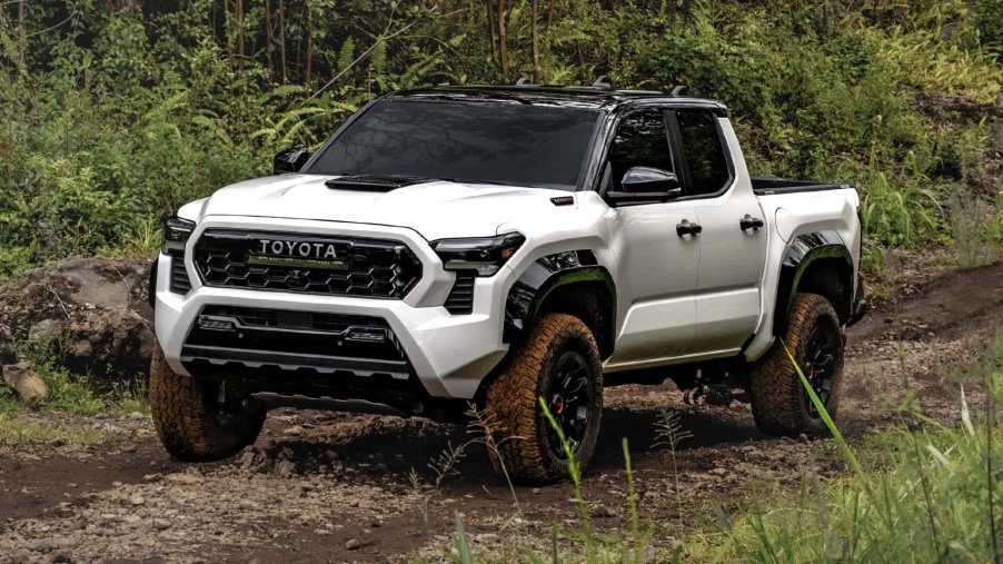
{"type": "MultiPolygon", "coordinates": [[[[441,261],[424,238],[413,230],[394,227],[357,224],[336,224],[294,219],[267,219],[242,217],[207,217],[192,234],[186,249],[186,270],[191,290],[185,295],[171,291],[170,260],[160,255],[156,283],[156,334],[168,364],[175,372],[190,374],[183,360],[186,340],[207,306],[232,306],[311,314],[358,315],[378,317],[393,330],[404,350],[409,374],[397,369],[395,379],[417,378],[425,392],[437,398],[471,398],[480,382],[504,358],[508,345],[503,343],[504,299],[512,285],[510,270],[489,278],[476,278],[473,313],[453,315],[444,304],[449,295],[455,275],[443,269],[441,261]],[[405,243],[423,263],[421,280],[404,299],[376,299],[366,297],[264,291],[230,287],[209,287],[201,280],[192,265],[193,245],[202,231],[210,228],[248,229],[255,231],[301,232],[348,237],[377,237],[405,243]]],[[[331,345],[334,347],[334,344],[331,345]]],[[[327,354],[328,352],[318,350],[327,354]]],[[[188,347],[188,356],[191,347],[188,347]]],[[[234,354],[228,354],[234,357],[234,354]]],[[[245,350],[235,358],[236,364],[255,368],[269,366],[279,372],[311,369],[311,363],[321,365],[328,360],[309,355],[289,355],[286,352],[245,350]]],[[[189,365],[190,366],[190,365],[189,365]]],[[[339,373],[321,366],[318,377],[338,378],[339,373]]],[[[373,366],[356,366],[357,375],[373,372],[373,366]]],[[[346,369],[351,369],[348,366],[346,369]]],[[[354,370],[355,372],[355,370],[354,370]]],[[[337,386],[337,382],[326,382],[337,386]]]]}

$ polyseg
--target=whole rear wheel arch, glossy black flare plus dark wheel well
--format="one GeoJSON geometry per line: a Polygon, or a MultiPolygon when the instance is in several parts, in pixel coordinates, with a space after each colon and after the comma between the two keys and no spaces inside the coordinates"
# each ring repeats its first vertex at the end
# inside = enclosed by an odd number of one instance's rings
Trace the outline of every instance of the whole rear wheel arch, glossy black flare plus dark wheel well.
{"type": "Polygon", "coordinates": [[[818,294],[836,310],[841,324],[854,318],[853,255],[836,231],[798,235],[784,250],[776,294],[773,334],[782,335],[794,296],[818,294]]]}

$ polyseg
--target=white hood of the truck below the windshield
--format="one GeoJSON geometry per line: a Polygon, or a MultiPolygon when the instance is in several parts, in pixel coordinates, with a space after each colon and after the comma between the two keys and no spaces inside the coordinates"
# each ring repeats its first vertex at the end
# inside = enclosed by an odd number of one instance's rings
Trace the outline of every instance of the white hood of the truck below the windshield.
{"type": "MultiPolygon", "coordinates": [[[[433,180],[367,191],[328,188],[332,176],[284,175],[227,186],[206,201],[205,216],[315,219],[406,227],[428,240],[495,235],[498,226],[553,214],[563,190],[433,180]]],[[[570,206],[569,206],[570,207],[570,206]]]]}

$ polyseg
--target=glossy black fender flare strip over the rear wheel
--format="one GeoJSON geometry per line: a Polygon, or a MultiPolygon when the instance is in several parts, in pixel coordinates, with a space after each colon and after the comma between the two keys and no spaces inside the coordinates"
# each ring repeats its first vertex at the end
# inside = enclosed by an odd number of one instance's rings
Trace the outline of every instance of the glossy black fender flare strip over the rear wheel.
{"type": "MultiPolygon", "coordinates": [[[[794,295],[801,285],[802,277],[808,267],[821,259],[836,259],[844,261],[851,274],[850,284],[853,284],[853,255],[840,234],[833,230],[802,234],[794,238],[784,250],[781,261],[779,280],[776,290],[776,306],[774,309],[773,334],[783,335],[787,316],[794,304],[794,295]]],[[[855,298],[853,288],[847,288],[846,304],[835,304],[836,311],[844,321],[851,316],[853,308],[850,304],[855,298]]]]}

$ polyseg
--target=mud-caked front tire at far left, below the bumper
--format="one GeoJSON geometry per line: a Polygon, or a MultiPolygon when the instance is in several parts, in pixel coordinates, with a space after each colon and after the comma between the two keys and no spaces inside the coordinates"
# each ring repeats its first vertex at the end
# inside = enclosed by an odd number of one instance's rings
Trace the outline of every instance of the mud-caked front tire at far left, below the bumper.
{"type": "Polygon", "coordinates": [[[265,406],[249,399],[226,412],[218,388],[171,370],[160,346],[150,363],[150,410],[163,447],[181,461],[218,461],[250,445],[265,424],[265,406]]]}

